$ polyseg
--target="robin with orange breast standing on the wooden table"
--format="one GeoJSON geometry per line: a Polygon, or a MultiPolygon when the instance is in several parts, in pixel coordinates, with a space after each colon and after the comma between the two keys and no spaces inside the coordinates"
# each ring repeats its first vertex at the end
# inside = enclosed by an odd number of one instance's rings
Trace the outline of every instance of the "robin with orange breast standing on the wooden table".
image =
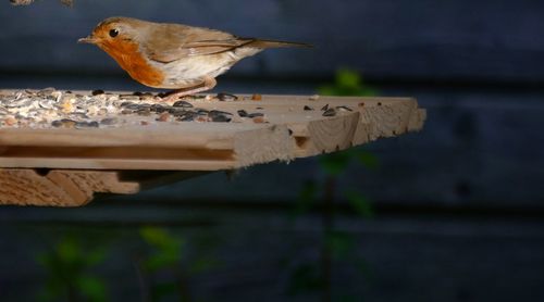
{"type": "Polygon", "coordinates": [[[171,89],[163,101],[207,91],[218,77],[244,58],[268,48],[311,48],[311,45],[242,38],[225,32],[175,23],[114,16],[78,39],[113,58],[136,81],[171,89]]]}

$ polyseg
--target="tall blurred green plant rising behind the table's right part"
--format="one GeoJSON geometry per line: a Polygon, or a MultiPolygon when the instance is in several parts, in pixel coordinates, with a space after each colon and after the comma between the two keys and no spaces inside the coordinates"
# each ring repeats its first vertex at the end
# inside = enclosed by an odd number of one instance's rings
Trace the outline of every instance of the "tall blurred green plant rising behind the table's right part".
{"type": "MultiPolygon", "coordinates": [[[[375,89],[364,84],[357,72],[348,68],[338,70],[334,83],[320,87],[318,92],[323,96],[374,96],[378,93],[375,89]]],[[[350,166],[361,165],[368,169],[376,169],[380,162],[373,153],[361,147],[321,155],[318,162],[324,177],[310,179],[304,184],[292,217],[307,214],[318,206],[322,207],[320,259],[312,263],[302,262],[292,265],[287,291],[290,294],[320,291],[322,301],[359,301],[360,297],[335,295],[332,290],[333,262],[349,262],[362,274],[368,274],[366,261],[355,252],[357,244],[353,236],[335,227],[334,222],[337,215],[335,199],[338,196],[336,184],[350,166]]],[[[342,196],[347,201],[349,210],[358,217],[373,217],[371,203],[360,191],[348,189],[342,192],[342,196]]]]}

